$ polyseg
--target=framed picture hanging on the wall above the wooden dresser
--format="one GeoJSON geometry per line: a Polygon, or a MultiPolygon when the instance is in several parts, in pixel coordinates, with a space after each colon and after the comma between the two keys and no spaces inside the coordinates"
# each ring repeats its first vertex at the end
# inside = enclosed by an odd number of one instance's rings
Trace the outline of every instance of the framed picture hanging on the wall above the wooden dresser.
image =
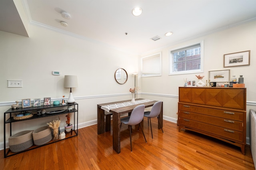
{"type": "Polygon", "coordinates": [[[250,50],[224,54],[224,67],[250,65],[250,50]]]}

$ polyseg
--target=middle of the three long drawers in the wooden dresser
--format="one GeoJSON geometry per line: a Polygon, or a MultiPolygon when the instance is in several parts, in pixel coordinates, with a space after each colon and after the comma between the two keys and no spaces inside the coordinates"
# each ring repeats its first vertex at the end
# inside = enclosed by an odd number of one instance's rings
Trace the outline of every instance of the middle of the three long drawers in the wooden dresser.
{"type": "Polygon", "coordinates": [[[210,125],[215,125],[219,127],[229,128],[237,131],[243,131],[243,122],[234,121],[231,119],[225,119],[220,117],[213,117],[209,115],[202,115],[198,113],[188,112],[188,111],[179,111],[179,117],[185,119],[191,119],[194,121],[199,121],[202,123],[207,123],[210,125]]]}

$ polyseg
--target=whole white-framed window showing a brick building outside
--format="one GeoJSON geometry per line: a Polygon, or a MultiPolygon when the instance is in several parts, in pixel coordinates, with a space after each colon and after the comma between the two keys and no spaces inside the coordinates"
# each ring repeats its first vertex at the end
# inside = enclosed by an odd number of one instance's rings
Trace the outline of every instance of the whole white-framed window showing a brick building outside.
{"type": "Polygon", "coordinates": [[[196,43],[170,51],[170,74],[198,73],[203,71],[203,44],[196,43]]]}

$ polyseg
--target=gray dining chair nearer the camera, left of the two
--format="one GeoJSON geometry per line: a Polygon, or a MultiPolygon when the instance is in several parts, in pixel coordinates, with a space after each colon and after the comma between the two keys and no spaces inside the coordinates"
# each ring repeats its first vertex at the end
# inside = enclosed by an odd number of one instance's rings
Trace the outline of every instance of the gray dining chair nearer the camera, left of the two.
{"type": "MultiPolygon", "coordinates": [[[[140,124],[141,121],[143,120],[144,109],[145,109],[145,105],[138,105],[132,110],[132,113],[131,113],[130,116],[120,119],[120,121],[121,121],[120,128],[122,126],[122,123],[124,123],[124,124],[128,125],[128,128],[130,129],[131,152],[132,152],[132,125],[138,125],[139,124],[139,128],[141,128],[143,136],[144,136],[145,141],[147,143],[145,134],[144,134],[143,129],[142,129],[141,124],[140,124]]],[[[139,130],[139,128],[138,128],[138,130],[139,130]]]]}

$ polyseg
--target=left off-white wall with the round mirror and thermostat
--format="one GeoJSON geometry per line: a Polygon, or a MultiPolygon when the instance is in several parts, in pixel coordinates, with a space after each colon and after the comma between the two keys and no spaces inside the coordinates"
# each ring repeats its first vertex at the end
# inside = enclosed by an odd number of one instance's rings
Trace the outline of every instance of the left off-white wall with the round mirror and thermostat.
{"type": "MultiPolygon", "coordinates": [[[[30,26],[30,38],[0,32],[0,56],[1,127],[4,126],[3,113],[16,100],[30,98],[33,101],[44,97],[61,100],[63,95],[67,98],[70,89],[64,88],[64,75],[78,76],[78,88],[72,89],[72,93],[79,104],[80,127],[90,124],[90,121],[96,123],[97,104],[131,98],[132,73],[138,69],[138,63],[134,62],[138,56],[36,26],[30,26]],[[118,68],[124,68],[128,73],[124,85],[114,79],[118,68]],[[52,71],[60,71],[61,75],[52,75],[52,71]],[[22,80],[23,87],[8,88],[7,80],[22,80]]],[[[52,119],[58,117],[14,123],[13,134],[23,128],[34,130],[42,127],[52,119]]],[[[66,118],[63,116],[61,120],[64,127],[66,118]]],[[[3,136],[3,128],[0,128],[0,144],[3,136]]]]}

